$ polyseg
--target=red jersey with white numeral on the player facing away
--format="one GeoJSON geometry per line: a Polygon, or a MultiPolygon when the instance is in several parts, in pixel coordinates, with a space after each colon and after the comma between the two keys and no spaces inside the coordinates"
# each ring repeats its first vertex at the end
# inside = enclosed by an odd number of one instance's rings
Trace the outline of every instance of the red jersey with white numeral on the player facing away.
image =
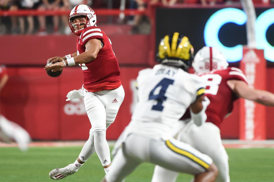
{"type": "MultiPolygon", "coordinates": [[[[224,117],[232,112],[233,102],[238,99],[227,85],[227,81],[241,80],[247,83],[246,77],[240,69],[233,67],[223,70],[213,70],[199,76],[206,83],[205,95],[210,101],[206,109],[206,122],[212,122],[220,128],[224,117]]],[[[186,119],[187,114],[181,120],[186,119]]]]}

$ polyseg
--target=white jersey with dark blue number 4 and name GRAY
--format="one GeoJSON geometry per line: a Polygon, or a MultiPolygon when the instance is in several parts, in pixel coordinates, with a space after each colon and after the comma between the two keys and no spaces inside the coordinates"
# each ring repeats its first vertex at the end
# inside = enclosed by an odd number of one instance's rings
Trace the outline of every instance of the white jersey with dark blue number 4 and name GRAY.
{"type": "Polygon", "coordinates": [[[162,64],[141,70],[137,85],[138,103],[129,128],[157,139],[172,131],[190,104],[205,90],[199,76],[162,64]]]}

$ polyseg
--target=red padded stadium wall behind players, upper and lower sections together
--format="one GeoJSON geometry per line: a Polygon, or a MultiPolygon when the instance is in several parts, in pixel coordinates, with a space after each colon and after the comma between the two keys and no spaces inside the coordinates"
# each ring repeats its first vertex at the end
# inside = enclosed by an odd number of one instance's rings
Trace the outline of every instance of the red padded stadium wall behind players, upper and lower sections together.
{"type": "MultiPolygon", "coordinates": [[[[107,131],[107,138],[114,140],[130,121],[133,102],[130,81],[136,79],[140,69],[146,68],[140,65],[148,65],[150,43],[149,35],[110,35],[110,39],[122,65],[121,79],[125,89],[125,99],[116,121],[107,131]]],[[[75,36],[0,36],[0,41],[6,42],[0,45],[5,53],[1,55],[0,64],[8,65],[10,77],[0,92],[1,113],[26,128],[34,139],[86,140],[90,122],[82,101],[65,101],[70,90],[81,88],[81,68],[66,67],[57,78],[49,77],[43,70],[47,58],[74,52],[75,36]]],[[[267,90],[271,92],[274,92],[270,82],[273,76],[274,68],[267,68],[267,90]]],[[[274,139],[273,117],[274,108],[268,107],[268,139],[274,139]]],[[[234,103],[232,114],[221,125],[221,136],[239,138],[239,101],[234,103]]]]}

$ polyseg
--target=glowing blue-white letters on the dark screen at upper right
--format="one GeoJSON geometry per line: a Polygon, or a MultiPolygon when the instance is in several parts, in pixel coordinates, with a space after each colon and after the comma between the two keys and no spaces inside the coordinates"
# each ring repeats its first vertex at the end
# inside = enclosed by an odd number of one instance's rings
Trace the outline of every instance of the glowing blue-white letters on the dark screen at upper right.
{"type": "MultiPolygon", "coordinates": [[[[219,38],[219,30],[226,23],[235,23],[243,25],[247,21],[246,14],[235,8],[225,8],[215,12],[208,19],[204,29],[204,39],[207,46],[218,48],[225,56],[228,62],[237,62],[243,57],[243,46],[237,45],[234,47],[224,46],[219,38]]],[[[274,62],[274,47],[266,40],[266,31],[274,23],[274,9],[269,9],[263,12],[256,20],[255,34],[256,46],[258,49],[265,50],[265,59],[274,62]]]]}

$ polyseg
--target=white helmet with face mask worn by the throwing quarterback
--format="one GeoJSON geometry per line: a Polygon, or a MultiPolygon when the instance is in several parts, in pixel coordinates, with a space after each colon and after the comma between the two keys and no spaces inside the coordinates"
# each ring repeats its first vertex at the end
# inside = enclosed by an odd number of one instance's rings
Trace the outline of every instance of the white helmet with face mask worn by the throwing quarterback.
{"type": "MultiPolygon", "coordinates": [[[[77,6],[75,6],[70,11],[68,21],[69,21],[70,31],[73,34],[77,35],[77,36],[79,36],[86,27],[96,26],[96,23],[97,23],[95,12],[90,7],[88,7],[87,5],[77,5],[77,6]],[[86,22],[81,22],[81,23],[85,23],[86,25],[84,26],[84,28],[82,28],[80,30],[77,30],[77,31],[74,30],[74,27],[72,25],[73,24],[73,18],[75,18],[76,16],[86,16],[86,22]]],[[[78,22],[78,23],[80,23],[80,22],[78,22]]]]}

